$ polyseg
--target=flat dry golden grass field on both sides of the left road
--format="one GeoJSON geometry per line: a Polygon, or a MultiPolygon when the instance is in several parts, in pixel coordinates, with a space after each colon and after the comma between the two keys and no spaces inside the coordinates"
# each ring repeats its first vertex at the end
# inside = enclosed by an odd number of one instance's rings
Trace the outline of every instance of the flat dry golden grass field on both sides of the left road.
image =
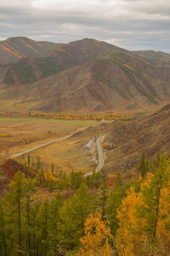
{"type": "Polygon", "coordinates": [[[69,139],[56,141],[33,150],[30,152],[30,156],[40,155],[41,161],[48,162],[49,165],[53,162],[55,168],[62,169],[67,173],[72,170],[81,170],[85,173],[92,171],[95,164],[91,158],[93,158],[93,154],[96,154],[89,153],[88,149],[80,150],[79,145],[97,135],[99,132],[97,124],[99,123],[96,121],[1,118],[0,134],[9,134],[10,136],[0,137],[0,157],[3,159],[45,142],[76,133],[69,139]],[[88,128],[89,126],[93,129],[88,128]],[[80,132],[82,130],[84,132],[80,132]],[[26,139],[28,144],[25,144],[23,139],[26,139]]]}

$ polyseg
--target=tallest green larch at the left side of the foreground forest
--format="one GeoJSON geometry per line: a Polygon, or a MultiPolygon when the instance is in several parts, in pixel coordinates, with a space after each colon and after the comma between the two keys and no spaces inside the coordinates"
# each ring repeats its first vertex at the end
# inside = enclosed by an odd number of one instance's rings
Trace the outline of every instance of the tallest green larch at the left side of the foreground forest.
{"type": "MultiPolygon", "coordinates": [[[[25,226],[25,195],[26,186],[24,173],[18,171],[15,181],[9,184],[9,191],[5,195],[5,210],[7,220],[8,239],[11,239],[11,254],[21,255],[24,251],[24,226],[25,226]]],[[[10,242],[9,242],[10,243],[10,242]]]]}

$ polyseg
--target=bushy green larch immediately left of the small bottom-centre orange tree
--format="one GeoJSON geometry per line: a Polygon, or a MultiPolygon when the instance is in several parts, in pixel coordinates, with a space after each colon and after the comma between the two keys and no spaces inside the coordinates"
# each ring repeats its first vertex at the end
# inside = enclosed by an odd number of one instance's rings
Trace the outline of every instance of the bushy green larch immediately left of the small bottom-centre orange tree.
{"type": "Polygon", "coordinates": [[[75,195],[69,196],[62,209],[62,247],[76,249],[79,247],[79,238],[84,236],[84,222],[94,208],[91,192],[84,183],[80,185],[75,195]]]}

